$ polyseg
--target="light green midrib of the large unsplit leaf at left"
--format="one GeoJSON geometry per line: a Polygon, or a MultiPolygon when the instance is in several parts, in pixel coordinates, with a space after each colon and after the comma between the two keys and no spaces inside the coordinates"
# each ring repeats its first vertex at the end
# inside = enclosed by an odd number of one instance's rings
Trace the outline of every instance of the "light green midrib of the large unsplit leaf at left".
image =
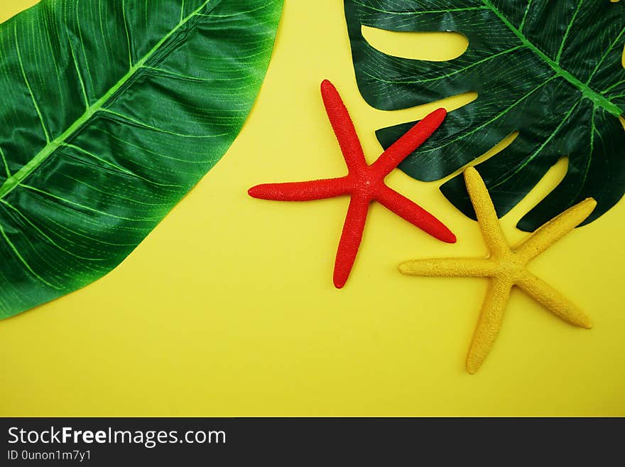
{"type": "Polygon", "coordinates": [[[6,181],[4,181],[4,183],[0,186],[0,200],[9,193],[11,193],[11,191],[13,191],[15,188],[20,186],[24,179],[26,179],[26,177],[28,177],[36,168],[38,168],[38,166],[40,166],[46,159],[48,159],[48,157],[53,154],[53,152],[56,151],[59,146],[64,144],[80,128],[82,128],[83,125],[89,122],[89,119],[91,119],[91,117],[93,117],[96,112],[99,112],[104,104],[106,104],[108,100],[121,89],[121,87],[126,85],[126,82],[129,82],[129,80],[131,80],[131,78],[134,77],[134,75],[136,75],[136,73],[141,70],[141,68],[143,68],[143,65],[150,58],[152,58],[155,53],[158,52],[161,46],[166,41],[168,41],[171,36],[177,33],[180,28],[185,26],[185,24],[188,23],[188,21],[190,21],[193,16],[197,16],[197,14],[199,14],[200,11],[204,9],[204,7],[207,6],[207,4],[209,4],[211,1],[214,0],[206,0],[186,18],[183,18],[181,13],[180,22],[175,26],[175,28],[173,28],[165,36],[163,36],[163,38],[161,38],[161,41],[158,41],[158,43],[156,43],[156,45],[154,45],[154,47],[151,48],[151,50],[148,51],[146,55],[143,55],[143,58],[141,58],[141,60],[138,60],[138,62],[136,62],[134,65],[131,64],[131,67],[129,68],[126,75],[121,77],[121,79],[116,82],[102,97],[100,97],[99,100],[94,102],[94,104],[92,104],[91,106],[87,107],[85,113],[82,114],[78,119],[76,119],[75,122],[72,123],[70,127],[68,127],[65,131],[63,131],[62,134],[53,139],[53,141],[49,141],[48,144],[46,144],[43,149],[41,149],[41,151],[39,151],[36,156],[33,157],[33,159],[31,159],[30,161],[28,161],[28,163],[22,166],[16,173],[13,174],[13,176],[7,178],[6,181]]]}

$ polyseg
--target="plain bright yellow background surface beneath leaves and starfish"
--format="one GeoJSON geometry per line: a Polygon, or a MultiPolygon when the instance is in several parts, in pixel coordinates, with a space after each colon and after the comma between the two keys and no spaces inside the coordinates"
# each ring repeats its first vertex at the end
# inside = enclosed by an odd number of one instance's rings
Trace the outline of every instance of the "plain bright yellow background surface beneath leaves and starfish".
{"type": "MultiPolygon", "coordinates": [[[[4,0],[0,16],[33,3],[4,0]]],[[[371,40],[389,50],[408,41],[423,58],[462,52],[457,37],[371,40]]],[[[467,375],[487,282],[397,271],[405,259],[486,253],[477,225],[439,183],[400,171],[388,178],[449,225],[457,245],[374,205],[342,291],[332,264],[347,198],[246,195],[256,183],[344,173],[318,91],[324,78],[342,93],[371,160],[381,152],[375,129],[436,107],[369,107],[354,80],[342,1],[286,0],[254,112],[209,176],[112,274],[0,322],[0,415],[625,415],[625,203],[531,265],[592,316],[592,331],[514,291],[491,355],[467,375]]],[[[506,215],[509,240],[524,237],[516,221],[564,168],[506,215]]]]}

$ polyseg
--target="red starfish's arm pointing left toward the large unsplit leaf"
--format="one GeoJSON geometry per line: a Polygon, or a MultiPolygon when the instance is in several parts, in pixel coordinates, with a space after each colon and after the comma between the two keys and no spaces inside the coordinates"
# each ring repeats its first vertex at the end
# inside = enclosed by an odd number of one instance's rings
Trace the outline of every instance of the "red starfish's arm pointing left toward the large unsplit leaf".
{"type": "Polygon", "coordinates": [[[311,201],[334,198],[351,190],[347,177],[325,178],[323,180],[266,183],[249,189],[252,198],[275,201],[311,201]]]}

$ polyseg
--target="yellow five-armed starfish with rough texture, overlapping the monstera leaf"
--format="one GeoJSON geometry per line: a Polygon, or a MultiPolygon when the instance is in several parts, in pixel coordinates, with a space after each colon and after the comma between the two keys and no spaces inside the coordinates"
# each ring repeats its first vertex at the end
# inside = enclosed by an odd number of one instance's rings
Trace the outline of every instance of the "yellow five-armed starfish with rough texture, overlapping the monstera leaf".
{"type": "Polygon", "coordinates": [[[476,372],[487,357],[499,332],[513,286],[518,286],[556,316],[575,326],[591,328],[590,318],[552,286],[527,270],[527,265],[555,242],[580,225],[597,202],[588,198],[540,227],[515,248],[504,237],[489,192],[474,168],[464,171],[464,183],[477,215],[477,222],[489,249],[486,258],[417,259],[399,265],[402,274],[426,277],[488,277],[473,342],[467,357],[467,371],[476,372]]]}

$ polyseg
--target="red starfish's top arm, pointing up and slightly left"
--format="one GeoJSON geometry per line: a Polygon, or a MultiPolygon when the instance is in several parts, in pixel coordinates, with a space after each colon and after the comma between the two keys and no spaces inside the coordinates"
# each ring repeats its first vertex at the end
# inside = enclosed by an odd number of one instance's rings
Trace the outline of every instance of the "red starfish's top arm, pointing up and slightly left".
{"type": "Polygon", "coordinates": [[[349,117],[347,107],[343,103],[337,88],[328,80],[321,83],[321,95],[327,117],[335,131],[339,146],[347,163],[349,171],[359,171],[366,167],[362,145],[354,128],[354,122],[349,117]]]}

